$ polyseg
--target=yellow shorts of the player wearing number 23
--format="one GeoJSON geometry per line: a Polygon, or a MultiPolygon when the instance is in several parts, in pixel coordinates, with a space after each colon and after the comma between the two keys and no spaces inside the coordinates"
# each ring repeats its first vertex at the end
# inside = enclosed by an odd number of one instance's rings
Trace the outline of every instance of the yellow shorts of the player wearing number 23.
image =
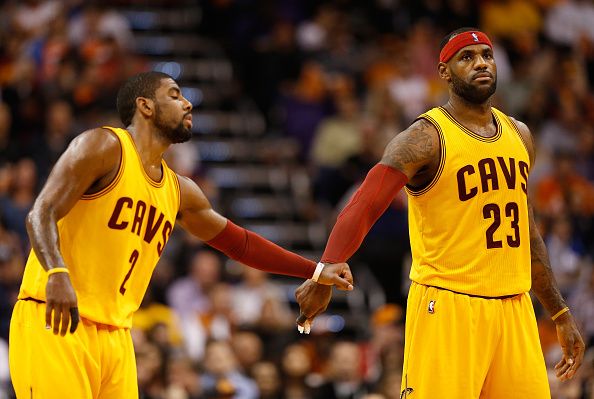
{"type": "Polygon", "coordinates": [[[483,299],[412,283],[402,398],[550,399],[528,293],[483,299]]]}

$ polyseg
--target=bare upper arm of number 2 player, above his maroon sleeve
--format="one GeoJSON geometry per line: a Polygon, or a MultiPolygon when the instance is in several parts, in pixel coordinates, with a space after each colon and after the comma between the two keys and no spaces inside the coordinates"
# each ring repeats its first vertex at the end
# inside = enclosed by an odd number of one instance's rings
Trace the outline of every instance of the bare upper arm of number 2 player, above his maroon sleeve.
{"type": "Polygon", "coordinates": [[[227,225],[227,219],[219,215],[198,185],[187,177],[179,176],[180,210],[178,223],[202,241],[217,236],[227,225]]]}

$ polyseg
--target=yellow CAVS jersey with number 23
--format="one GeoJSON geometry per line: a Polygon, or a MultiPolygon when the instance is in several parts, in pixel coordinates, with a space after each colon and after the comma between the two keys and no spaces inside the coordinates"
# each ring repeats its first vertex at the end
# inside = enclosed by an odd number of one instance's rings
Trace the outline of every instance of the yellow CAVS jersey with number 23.
{"type": "Polygon", "coordinates": [[[444,108],[426,119],[441,162],[425,187],[407,187],[411,280],[497,297],[530,290],[527,181],[530,160],[513,121],[492,108],[497,133],[482,137],[444,108]]]}

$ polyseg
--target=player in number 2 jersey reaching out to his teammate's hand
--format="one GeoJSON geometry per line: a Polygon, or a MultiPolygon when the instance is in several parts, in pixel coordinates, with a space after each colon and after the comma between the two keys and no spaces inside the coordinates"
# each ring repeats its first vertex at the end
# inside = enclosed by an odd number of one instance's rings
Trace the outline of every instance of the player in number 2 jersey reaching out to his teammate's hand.
{"type": "Polygon", "coordinates": [[[127,128],[78,136],[28,215],[33,250],[10,326],[18,398],[138,397],[132,315],[176,220],[248,266],[352,289],[346,264],[316,266],[244,230],[168,168],[164,151],[192,127],[192,105],[169,75],[130,78],[117,107],[127,128]]]}

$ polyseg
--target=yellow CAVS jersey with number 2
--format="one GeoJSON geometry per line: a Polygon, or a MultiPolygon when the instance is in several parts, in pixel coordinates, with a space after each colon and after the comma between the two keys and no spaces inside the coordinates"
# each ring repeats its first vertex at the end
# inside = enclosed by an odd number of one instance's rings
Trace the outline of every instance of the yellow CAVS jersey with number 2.
{"type": "MultiPolygon", "coordinates": [[[[103,190],[83,195],[58,221],[58,231],[80,315],[129,328],[173,231],[179,182],[165,161],[161,180],[152,180],[130,134],[109,129],[122,149],[117,176],[103,190]]],[[[46,282],[47,272],[31,251],[19,299],[45,301],[46,282]]]]}

